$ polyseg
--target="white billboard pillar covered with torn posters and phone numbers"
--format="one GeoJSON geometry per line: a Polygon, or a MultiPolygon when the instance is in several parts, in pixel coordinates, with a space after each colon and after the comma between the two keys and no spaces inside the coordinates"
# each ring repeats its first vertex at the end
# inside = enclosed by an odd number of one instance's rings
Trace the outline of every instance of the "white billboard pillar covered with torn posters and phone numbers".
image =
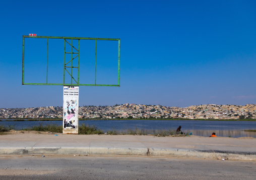
{"type": "Polygon", "coordinates": [[[63,134],[78,134],[79,86],[63,86],[63,134]]]}

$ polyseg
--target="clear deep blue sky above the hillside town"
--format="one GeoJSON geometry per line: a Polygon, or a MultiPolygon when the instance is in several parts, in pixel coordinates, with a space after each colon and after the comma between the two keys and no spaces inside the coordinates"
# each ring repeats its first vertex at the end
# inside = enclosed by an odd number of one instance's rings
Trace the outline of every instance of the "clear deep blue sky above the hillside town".
{"type": "MultiPolygon", "coordinates": [[[[121,86],[81,86],[80,106],[255,104],[255,9],[256,1],[246,0],[1,1],[0,108],[62,106],[62,86],[22,85],[22,36],[29,33],[121,39],[121,86]]],[[[45,77],[39,60],[46,51],[40,43],[34,41],[26,49],[31,50],[27,62],[30,56],[38,58],[30,59],[31,80],[45,77]]],[[[117,58],[115,45],[99,47],[97,76],[102,81],[111,81],[108,48],[115,48],[117,58]]],[[[51,75],[62,77],[63,42],[49,46],[56,49],[51,75]]],[[[88,56],[81,64],[90,70],[80,69],[86,81],[94,70],[94,51],[94,42],[81,51],[81,56],[88,56]]]]}

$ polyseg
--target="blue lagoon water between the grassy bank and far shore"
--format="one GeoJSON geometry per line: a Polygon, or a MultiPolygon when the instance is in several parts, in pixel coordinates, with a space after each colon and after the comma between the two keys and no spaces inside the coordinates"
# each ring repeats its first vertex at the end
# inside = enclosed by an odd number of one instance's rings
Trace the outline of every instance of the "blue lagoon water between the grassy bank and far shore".
{"type": "MultiPolygon", "coordinates": [[[[62,121],[0,121],[0,125],[13,126],[20,130],[40,123],[62,125],[62,121]]],[[[256,132],[244,130],[256,129],[256,121],[195,121],[195,120],[79,120],[79,124],[95,125],[104,132],[116,130],[125,132],[127,129],[142,129],[148,133],[161,130],[176,130],[180,125],[183,132],[192,132],[194,135],[210,136],[215,132],[223,137],[255,137],[256,132]]]]}

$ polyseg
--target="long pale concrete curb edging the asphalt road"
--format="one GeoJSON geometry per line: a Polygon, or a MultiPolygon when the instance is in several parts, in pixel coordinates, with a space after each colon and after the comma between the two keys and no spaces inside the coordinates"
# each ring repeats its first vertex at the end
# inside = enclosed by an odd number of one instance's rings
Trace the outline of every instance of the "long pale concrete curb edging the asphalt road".
{"type": "Polygon", "coordinates": [[[218,150],[190,150],[175,148],[113,148],[113,147],[1,147],[0,155],[37,154],[86,154],[86,155],[131,155],[175,156],[186,158],[215,158],[229,160],[256,160],[255,152],[232,152],[218,150]]]}

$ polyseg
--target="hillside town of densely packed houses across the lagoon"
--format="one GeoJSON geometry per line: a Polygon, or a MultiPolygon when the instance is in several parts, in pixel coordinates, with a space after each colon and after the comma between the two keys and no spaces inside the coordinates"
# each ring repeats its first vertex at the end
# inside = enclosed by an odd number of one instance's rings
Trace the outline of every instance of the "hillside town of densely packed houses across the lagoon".
{"type": "MultiPolygon", "coordinates": [[[[0,108],[1,119],[62,118],[62,107],[0,108]]],[[[82,119],[255,119],[256,105],[204,104],[189,107],[121,104],[113,106],[80,106],[82,119]]]]}

